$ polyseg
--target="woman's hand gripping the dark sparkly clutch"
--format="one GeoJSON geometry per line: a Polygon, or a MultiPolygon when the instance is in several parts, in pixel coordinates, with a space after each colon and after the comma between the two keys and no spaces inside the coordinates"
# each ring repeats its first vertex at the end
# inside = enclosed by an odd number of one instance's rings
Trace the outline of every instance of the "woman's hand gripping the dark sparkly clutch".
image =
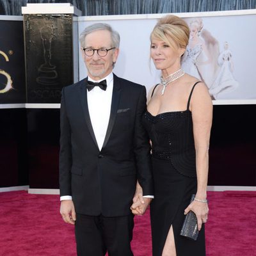
{"type": "Polygon", "coordinates": [[[189,211],[193,211],[196,214],[198,230],[201,230],[202,223],[207,222],[207,216],[209,214],[209,208],[207,202],[193,201],[185,209],[184,214],[188,214],[189,211]]]}

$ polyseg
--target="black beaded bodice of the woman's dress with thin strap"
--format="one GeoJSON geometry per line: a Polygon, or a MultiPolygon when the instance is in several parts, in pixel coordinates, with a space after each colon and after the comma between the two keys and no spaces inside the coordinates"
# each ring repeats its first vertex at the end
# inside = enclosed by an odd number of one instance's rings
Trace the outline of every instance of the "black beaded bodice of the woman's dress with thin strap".
{"type": "MultiPolygon", "coordinates": [[[[189,100],[190,98],[191,94],[189,100]]],[[[152,141],[152,156],[168,160],[178,172],[195,177],[195,143],[189,100],[188,108],[184,111],[166,112],[156,116],[146,111],[142,122],[152,141]]]]}

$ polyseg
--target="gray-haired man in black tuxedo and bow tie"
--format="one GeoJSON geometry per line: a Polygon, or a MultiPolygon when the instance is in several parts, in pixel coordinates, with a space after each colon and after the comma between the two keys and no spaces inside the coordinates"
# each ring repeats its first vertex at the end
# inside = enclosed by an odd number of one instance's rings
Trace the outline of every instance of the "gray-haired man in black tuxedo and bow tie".
{"type": "Polygon", "coordinates": [[[79,40],[88,77],[62,90],[60,213],[75,224],[77,255],[131,256],[137,180],[144,211],[153,195],[146,90],[113,74],[120,37],[108,24],[79,40]]]}

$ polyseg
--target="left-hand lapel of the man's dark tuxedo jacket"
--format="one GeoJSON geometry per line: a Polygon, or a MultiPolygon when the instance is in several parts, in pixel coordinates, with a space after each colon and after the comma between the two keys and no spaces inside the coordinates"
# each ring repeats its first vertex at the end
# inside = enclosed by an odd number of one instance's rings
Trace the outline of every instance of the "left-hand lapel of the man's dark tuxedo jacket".
{"type": "Polygon", "coordinates": [[[97,144],[97,140],[95,138],[95,134],[93,132],[93,128],[92,128],[92,122],[91,122],[91,119],[90,119],[90,114],[89,114],[89,110],[88,110],[88,102],[87,102],[87,90],[86,90],[86,81],[87,79],[83,79],[80,83],[80,88],[79,88],[79,97],[80,97],[80,100],[81,100],[81,104],[82,104],[82,107],[83,107],[83,113],[84,113],[84,118],[85,118],[85,121],[86,121],[86,124],[88,126],[88,130],[92,136],[92,139],[95,143],[95,145],[98,147],[98,144],[97,144]]]}

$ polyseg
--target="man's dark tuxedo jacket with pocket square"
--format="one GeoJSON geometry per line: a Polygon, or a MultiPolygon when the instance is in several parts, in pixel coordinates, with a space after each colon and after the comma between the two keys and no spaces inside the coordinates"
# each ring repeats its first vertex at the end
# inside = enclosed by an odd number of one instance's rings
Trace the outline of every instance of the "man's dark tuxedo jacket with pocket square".
{"type": "Polygon", "coordinates": [[[114,75],[111,114],[101,150],[86,93],[86,79],[62,90],[60,195],[71,195],[79,214],[130,214],[137,179],[143,195],[154,193],[149,139],[141,125],[145,87],[114,75]]]}

